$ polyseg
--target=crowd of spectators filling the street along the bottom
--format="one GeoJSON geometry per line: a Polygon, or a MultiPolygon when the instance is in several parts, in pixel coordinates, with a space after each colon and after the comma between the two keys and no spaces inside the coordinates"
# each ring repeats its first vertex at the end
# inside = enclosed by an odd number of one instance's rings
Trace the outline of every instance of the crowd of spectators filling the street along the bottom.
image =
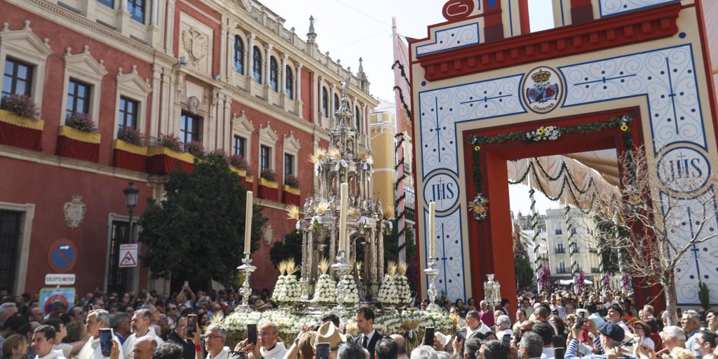
{"type": "MultiPolygon", "coordinates": [[[[377,332],[376,316],[368,307],[355,312],[355,337],[342,332],[345,323],[339,317],[326,314],[321,322],[304,325],[293,342],[282,342],[279,327],[264,322],[258,325],[256,340],[230,343],[219,323],[240,304],[232,291],[195,293],[187,284],[171,296],[142,292],[120,297],[98,291],[69,309],[63,302],[53,302],[47,313],[27,294],[0,294],[3,359],[309,359],[323,353],[317,343],[325,345],[328,353],[320,359],[713,359],[718,355],[717,312],[679,311],[680,326],[668,325],[671,313],[656,312],[651,305],[638,309],[630,293],[522,291],[513,313],[509,299],[493,307],[485,300],[447,299],[442,309],[457,323],[450,333],[455,339],[445,343],[437,338],[413,350],[406,333],[377,332]],[[194,328],[188,328],[190,315],[197,318],[194,328]],[[110,328],[111,351],[102,350],[100,332],[110,328]]],[[[255,292],[250,302],[257,310],[271,308],[267,291],[255,292]]],[[[417,302],[416,309],[427,307],[427,299],[417,302]]]]}

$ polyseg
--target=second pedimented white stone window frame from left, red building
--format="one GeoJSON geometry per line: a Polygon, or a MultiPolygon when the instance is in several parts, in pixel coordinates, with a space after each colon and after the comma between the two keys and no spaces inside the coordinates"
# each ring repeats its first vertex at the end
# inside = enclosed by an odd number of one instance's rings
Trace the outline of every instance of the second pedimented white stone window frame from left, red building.
{"type": "Polygon", "coordinates": [[[60,125],[65,126],[65,111],[67,110],[67,89],[70,85],[70,78],[87,83],[92,86],[90,97],[90,116],[95,125],[100,127],[100,98],[102,93],[102,80],[107,75],[103,65],[104,60],[95,60],[88,45],[83,47],[83,52],[72,55],[72,49],[67,47],[65,55],[62,56],[65,62],[65,80],[62,81],[62,111],[60,111],[60,125]]]}

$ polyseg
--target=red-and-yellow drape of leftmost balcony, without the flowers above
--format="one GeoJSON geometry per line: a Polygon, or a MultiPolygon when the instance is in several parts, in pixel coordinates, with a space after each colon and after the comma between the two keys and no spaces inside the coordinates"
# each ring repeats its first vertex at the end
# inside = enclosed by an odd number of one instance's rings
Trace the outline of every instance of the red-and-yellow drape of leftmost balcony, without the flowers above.
{"type": "Polygon", "coordinates": [[[0,144],[41,151],[44,126],[45,121],[0,110],[0,144]]]}

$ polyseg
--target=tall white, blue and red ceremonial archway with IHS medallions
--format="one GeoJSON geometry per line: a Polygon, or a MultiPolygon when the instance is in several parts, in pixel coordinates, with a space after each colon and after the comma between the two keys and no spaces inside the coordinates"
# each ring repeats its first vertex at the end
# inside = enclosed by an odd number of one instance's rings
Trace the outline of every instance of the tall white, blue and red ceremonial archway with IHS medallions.
{"type": "MultiPolygon", "coordinates": [[[[575,126],[633,113],[632,136],[645,144],[648,157],[681,156],[700,162],[704,175],[712,173],[718,153],[715,90],[701,4],[650,3],[564,1],[554,4],[566,8],[554,9],[565,15],[559,27],[529,34],[526,2],[505,9],[505,1],[453,0],[444,6],[447,23],[410,42],[421,268],[429,243],[428,203],[435,201],[434,249],[442,271],[437,286],[449,298],[482,297],[488,273],[497,274],[504,297],[513,297],[506,159],[622,146],[616,129],[529,147],[518,141],[487,146],[481,170],[490,205],[485,223],[477,223],[467,208],[476,194],[468,142],[473,134],[575,126]]],[[[718,249],[715,242],[705,244],[708,253],[718,249]]],[[[699,271],[718,302],[718,259],[696,256],[676,274],[679,305],[699,303],[699,271]]],[[[426,277],[421,286],[426,288],[426,277]]]]}

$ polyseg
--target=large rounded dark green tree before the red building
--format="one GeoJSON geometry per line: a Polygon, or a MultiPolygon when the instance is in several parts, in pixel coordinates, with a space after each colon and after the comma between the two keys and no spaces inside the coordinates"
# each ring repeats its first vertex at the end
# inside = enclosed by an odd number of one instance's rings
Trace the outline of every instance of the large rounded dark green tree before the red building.
{"type": "MultiPolygon", "coordinates": [[[[221,154],[195,161],[192,174],[174,171],[162,202],[149,199],[139,218],[139,241],[149,248],[141,263],[153,278],[230,284],[244,251],[246,188],[221,154]]],[[[251,251],[266,222],[253,207],[251,251]]]]}

